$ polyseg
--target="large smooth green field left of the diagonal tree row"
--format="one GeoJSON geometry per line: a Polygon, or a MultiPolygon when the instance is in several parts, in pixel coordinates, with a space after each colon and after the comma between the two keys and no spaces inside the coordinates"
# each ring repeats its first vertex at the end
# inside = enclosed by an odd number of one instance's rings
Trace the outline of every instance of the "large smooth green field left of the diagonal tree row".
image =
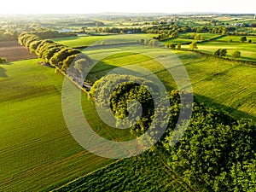
{"type": "MultiPolygon", "coordinates": [[[[85,151],[67,130],[62,82],[38,59],[0,65],[0,191],[47,191],[113,161],[85,151]]],[[[90,125],[105,128],[102,137],[129,137],[106,127],[84,95],[82,104],[90,125]]]]}

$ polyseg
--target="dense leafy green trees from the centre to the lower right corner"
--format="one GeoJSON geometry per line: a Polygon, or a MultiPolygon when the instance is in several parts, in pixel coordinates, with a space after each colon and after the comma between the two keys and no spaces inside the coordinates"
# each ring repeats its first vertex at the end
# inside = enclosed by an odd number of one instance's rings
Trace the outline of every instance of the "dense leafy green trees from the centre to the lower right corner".
{"type": "MultiPolygon", "coordinates": [[[[113,77],[113,81],[118,84],[118,77],[113,77]]],[[[97,87],[98,84],[99,82],[96,82],[90,96],[95,96],[96,88],[104,90],[108,87],[107,81],[103,87],[97,87]]],[[[113,92],[111,105],[114,114],[125,114],[126,102],[131,99],[136,98],[139,102],[144,99],[146,103],[150,100],[147,94],[141,96],[142,90],[131,87],[131,83],[121,84],[113,92]]],[[[100,92],[104,94],[103,91],[100,92]]],[[[179,134],[173,131],[180,108],[177,90],[172,90],[170,102],[172,105],[169,126],[156,150],[169,154],[166,161],[172,170],[198,191],[253,191],[256,184],[253,172],[256,166],[256,127],[253,121],[236,121],[217,109],[207,108],[195,102],[188,129],[180,142],[172,147],[171,138],[179,134]]],[[[147,104],[147,108],[146,112],[150,113],[144,113],[143,116],[147,119],[147,124],[137,127],[135,134],[138,136],[151,123],[154,111],[150,108],[153,106],[147,104]]],[[[122,115],[121,118],[124,118],[122,115]]]]}

